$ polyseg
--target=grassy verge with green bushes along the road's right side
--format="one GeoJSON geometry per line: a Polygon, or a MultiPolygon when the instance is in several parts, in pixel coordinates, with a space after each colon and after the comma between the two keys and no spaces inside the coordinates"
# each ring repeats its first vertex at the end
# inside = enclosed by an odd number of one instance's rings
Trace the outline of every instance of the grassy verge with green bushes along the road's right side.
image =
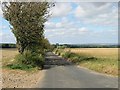
{"type": "Polygon", "coordinates": [[[70,49],[57,49],[54,52],[77,65],[100,73],[118,76],[118,58],[115,55],[104,56],[103,53],[101,56],[97,56],[95,54],[86,54],[85,52],[75,53],[70,51],[70,49]]]}

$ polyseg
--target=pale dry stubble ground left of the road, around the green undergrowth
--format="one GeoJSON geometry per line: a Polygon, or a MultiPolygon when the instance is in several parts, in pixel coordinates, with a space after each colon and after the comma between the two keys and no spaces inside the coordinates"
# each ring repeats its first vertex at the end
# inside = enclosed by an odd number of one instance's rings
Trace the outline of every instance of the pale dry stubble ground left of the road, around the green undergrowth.
{"type": "Polygon", "coordinates": [[[17,49],[0,49],[2,52],[2,88],[32,88],[37,85],[43,77],[43,73],[37,69],[32,71],[13,70],[5,68],[7,64],[14,62],[17,49]]]}

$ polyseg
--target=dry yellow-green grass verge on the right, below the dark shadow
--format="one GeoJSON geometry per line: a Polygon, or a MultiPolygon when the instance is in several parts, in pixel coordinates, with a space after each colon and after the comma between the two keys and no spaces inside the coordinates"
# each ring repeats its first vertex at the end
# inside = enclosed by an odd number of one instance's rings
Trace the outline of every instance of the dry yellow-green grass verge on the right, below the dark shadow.
{"type": "Polygon", "coordinates": [[[118,76],[118,61],[114,61],[113,59],[109,59],[108,61],[108,59],[97,58],[94,61],[83,61],[79,65],[98,72],[118,76]]]}

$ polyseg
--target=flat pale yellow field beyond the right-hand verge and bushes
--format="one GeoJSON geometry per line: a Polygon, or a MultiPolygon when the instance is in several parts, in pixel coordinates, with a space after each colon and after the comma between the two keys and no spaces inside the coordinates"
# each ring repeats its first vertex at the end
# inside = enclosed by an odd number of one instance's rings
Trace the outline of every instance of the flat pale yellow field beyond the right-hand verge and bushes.
{"type": "Polygon", "coordinates": [[[67,50],[84,55],[118,58],[118,48],[70,48],[67,50]]]}

